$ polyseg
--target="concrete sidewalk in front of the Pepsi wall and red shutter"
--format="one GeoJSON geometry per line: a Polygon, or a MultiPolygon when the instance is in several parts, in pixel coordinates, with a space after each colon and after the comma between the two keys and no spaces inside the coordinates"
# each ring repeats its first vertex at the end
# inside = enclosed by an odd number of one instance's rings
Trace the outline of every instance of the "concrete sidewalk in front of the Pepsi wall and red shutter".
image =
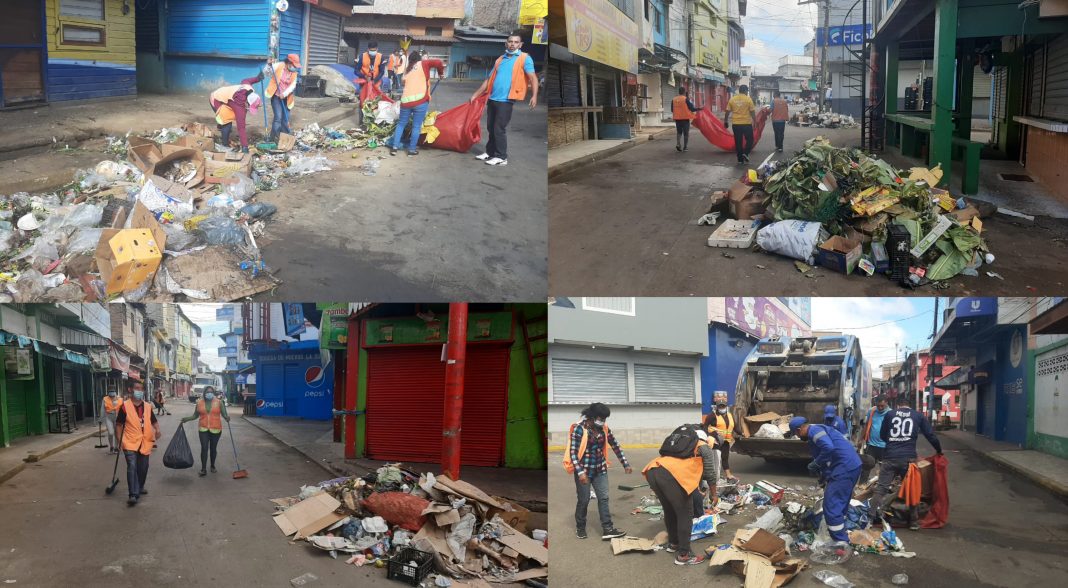
{"type": "MultiPolygon", "coordinates": [[[[363,476],[388,463],[345,459],[344,446],[333,442],[333,424],[330,420],[255,416],[242,418],[334,476],[363,476]]],[[[404,466],[415,472],[441,472],[441,465],[437,463],[405,462],[404,466]]],[[[545,470],[465,466],[461,472],[464,481],[490,495],[513,499],[535,511],[545,511],[547,508],[549,491],[545,470]]]]}

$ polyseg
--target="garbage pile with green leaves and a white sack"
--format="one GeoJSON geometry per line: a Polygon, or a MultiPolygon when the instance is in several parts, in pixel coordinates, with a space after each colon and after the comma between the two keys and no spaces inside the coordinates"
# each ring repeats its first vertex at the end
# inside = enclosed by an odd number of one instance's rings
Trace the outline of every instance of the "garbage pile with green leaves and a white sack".
{"type": "Polygon", "coordinates": [[[755,243],[796,259],[810,277],[818,265],[847,275],[884,273],[905,287],[942,288],[994,260],[981,237],[981,218],[993,207],[937,188],[940,168],[901,172],[822,137],[789,159],[770,159],[712,193],[709,212],[736,220],[718,227],[709,245],[755,243]]]}

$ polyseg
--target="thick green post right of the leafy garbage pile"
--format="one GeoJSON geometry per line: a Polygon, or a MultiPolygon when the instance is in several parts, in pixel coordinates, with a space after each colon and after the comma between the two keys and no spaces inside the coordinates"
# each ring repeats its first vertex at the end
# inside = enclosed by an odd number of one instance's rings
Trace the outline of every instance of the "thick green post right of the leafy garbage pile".
{"type": "Polygon", "coordinates": [[[934,106],[931,108],[928,164],[942,164],[942,186],[949,185],[953,171],[953,82],[957,58],[957,0],[936,0],[934,4],[934,106]]]}

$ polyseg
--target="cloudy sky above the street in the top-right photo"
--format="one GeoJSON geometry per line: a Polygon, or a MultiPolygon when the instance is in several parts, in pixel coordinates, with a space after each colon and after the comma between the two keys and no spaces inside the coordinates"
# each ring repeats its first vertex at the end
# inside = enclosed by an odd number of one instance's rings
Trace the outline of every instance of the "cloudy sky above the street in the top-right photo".
{"type": "Polygon", "coordinates": [[[798,0],[749,0],[742,18],[745,46],[741,64],[754,66],[756,74],[774,74],[779,58],[803,55],[806,43],[815,38],[816,5],[798,5],[798,0]]]}

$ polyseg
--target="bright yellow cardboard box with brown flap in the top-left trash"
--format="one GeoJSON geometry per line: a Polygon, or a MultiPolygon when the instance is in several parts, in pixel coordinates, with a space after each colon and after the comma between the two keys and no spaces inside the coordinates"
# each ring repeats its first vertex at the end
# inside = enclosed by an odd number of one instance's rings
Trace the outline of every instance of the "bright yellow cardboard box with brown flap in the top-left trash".
{"type": "Polygon", "coordinates": [[[163,259],[167,234],[140,202],[134,206],[130,226],[100,232],[94,257],[109,296],[137,289],[163,259]]]}

